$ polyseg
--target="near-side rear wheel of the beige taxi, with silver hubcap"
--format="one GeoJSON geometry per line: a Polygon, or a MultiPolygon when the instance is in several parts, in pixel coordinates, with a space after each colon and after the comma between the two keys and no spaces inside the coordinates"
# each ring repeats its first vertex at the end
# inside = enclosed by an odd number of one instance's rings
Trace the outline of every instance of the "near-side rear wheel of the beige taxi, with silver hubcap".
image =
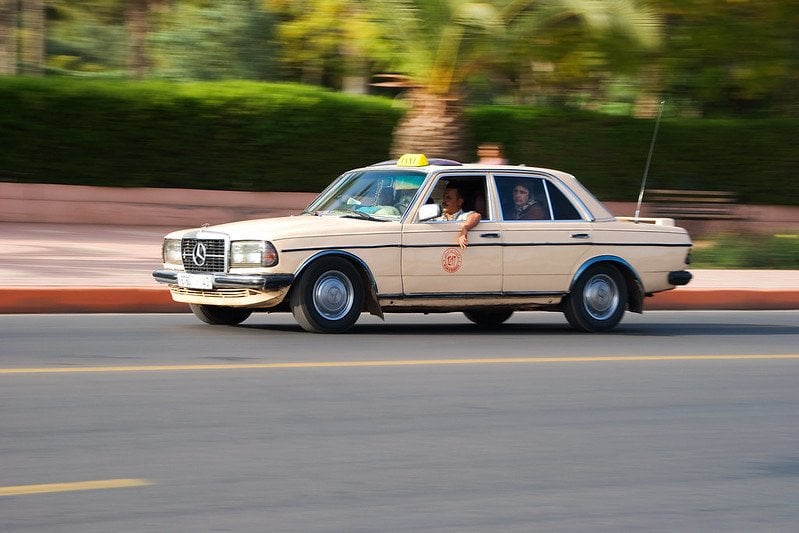
{"type": "Polygon", "coordinates": [[[609,331],[624,316],[627,285],[621,273],[610,265],[586,270],[566,297],[563,313],[578,331],[609,331]]]}

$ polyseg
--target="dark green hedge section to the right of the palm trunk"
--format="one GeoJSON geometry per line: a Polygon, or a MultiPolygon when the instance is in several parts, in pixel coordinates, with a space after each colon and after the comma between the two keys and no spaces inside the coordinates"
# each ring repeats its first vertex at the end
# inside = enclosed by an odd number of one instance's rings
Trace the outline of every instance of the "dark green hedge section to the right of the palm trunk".
{"type": "MultiPolygon", "coordinates": [[[[571,172],[604,200],[638,198],[654,120],[507,107],[473,109],[470,116],[475,137],[502,142],[512,162],[571,172]]],[[[796,119],[664,118],[647,187],[799,205],[798,134],[796,119]]]]}

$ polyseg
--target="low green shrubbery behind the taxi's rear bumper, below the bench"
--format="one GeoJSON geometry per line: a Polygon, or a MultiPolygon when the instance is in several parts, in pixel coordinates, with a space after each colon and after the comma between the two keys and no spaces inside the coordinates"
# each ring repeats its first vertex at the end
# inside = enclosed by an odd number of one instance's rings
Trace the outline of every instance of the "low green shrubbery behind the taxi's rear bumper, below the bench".
{"type": "Polygon", "coordinates": [[[698,243],[691,268],[799,270],[799,235],[721,235],[698,243]]]}

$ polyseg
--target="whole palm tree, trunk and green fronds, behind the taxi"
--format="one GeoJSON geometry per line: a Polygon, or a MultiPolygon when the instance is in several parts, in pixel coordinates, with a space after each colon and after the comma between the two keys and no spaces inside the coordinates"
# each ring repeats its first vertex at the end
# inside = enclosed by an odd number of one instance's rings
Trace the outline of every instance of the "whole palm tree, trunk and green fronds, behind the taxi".
{"type": "Polygon", "coordinates": [[[394,130],[394,156],[425,152],[462,160],[473,157],[460,84],[470,73],[496,64],[492,50],[503,40],[524,43],[547,29],[571,25],[650,46],[660,30],[657,17],[634,0],[366,2],[389,32],[394,68],[409,76],[410,110],[394,130]]]}

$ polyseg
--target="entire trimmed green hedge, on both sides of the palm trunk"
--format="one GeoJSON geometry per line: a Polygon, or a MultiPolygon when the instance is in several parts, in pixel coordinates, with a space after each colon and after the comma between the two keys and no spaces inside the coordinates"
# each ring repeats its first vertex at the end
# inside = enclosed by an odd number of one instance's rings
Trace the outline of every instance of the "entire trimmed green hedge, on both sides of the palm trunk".
{"type": "MultiPolygon", "coordinates": [[[[404,111],[291,84],[0,78],[0,180],[319,191],[387,159],[404,111]]],[[[572,172],[604,200],[638,196],[653,120],[500,106],[467,116],[472,137],[502,142],[513,163],[572,172]]],[[[648,185],[799,205],[797,133],[796,119],[664,118],[648,185]]]]}

